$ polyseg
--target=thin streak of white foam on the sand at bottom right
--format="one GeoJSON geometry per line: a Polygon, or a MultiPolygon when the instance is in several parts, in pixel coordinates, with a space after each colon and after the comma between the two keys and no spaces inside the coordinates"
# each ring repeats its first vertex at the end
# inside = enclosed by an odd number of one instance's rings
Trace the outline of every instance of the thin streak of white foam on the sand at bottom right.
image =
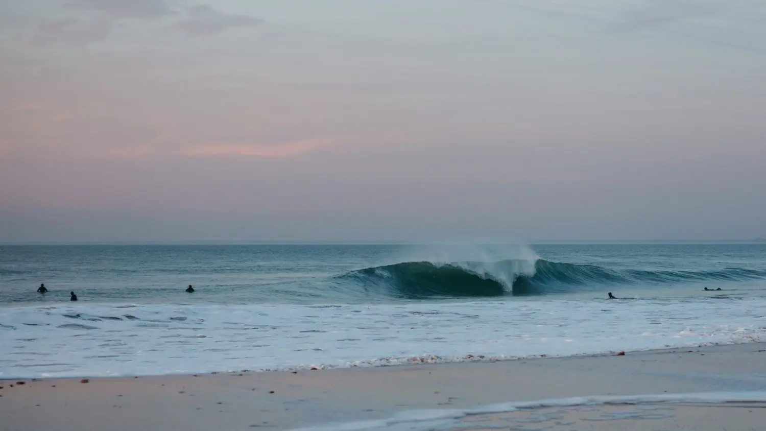
{"type": "Polygon", "coordinates": [[[408,410],[396,413],[388,419],[353,423],[332,423],[292,429],[291,431],[373,431],[375,429],[408,429],[418,431],[445,426],[465,416],[510,413],[519,409],[544,407],[596,406],[606,403],[656,404],[656,403],[766,403],[766,391],[758,392],[709,392],[709,393],[662,393],[630,396],[553,398],[537,401],[520,401],[493,404],[464,410],[408,410]]]}

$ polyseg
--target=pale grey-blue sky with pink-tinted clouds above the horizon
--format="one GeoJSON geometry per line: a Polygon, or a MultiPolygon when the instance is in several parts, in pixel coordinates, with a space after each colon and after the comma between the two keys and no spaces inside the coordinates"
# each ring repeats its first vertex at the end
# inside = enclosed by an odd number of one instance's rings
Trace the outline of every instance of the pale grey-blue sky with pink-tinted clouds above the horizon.
{"type": "Polygon", "coordinates": [[[762,0],[0,0],[0,242],[766,237],[762,0]]]}

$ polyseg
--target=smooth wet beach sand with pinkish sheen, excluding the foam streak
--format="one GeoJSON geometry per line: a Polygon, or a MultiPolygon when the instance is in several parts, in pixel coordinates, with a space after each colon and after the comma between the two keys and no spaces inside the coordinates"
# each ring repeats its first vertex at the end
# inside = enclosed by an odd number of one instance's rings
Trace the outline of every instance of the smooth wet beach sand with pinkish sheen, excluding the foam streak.
{"type": "MultiPolygon", "coordinates": [[[[766,344],[496,363],[90,378],[87,383],[2,380],[0,386],[4,431],[293,429],[383,420],[402,410],[446,411],[512,401],[766,391],[766,344]]],[[[763,407],[758,402],[539,407],[471,414],[450,427],[761,429],[766,423],[763,407]],[[642,414],[656,417],[639,417],[642,414]]],[[[394,428],[422,429],[407,423],[391,425],[394,428]]]]}

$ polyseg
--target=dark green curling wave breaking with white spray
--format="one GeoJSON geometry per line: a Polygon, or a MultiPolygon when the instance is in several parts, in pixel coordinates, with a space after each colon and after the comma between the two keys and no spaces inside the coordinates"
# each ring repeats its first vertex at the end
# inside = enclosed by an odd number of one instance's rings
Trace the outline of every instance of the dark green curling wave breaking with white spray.
{"type": "Polygon", "coordinates": [[[766,278],[764,269],[714,271],[608,269],[597,265],[550,260],[433,263],[428,261],[374,266],[345,273],[340,279],[365,289],[404,299],[493,297],[568,292],[576,286],[636,283],[747,281],[766,278]]]}

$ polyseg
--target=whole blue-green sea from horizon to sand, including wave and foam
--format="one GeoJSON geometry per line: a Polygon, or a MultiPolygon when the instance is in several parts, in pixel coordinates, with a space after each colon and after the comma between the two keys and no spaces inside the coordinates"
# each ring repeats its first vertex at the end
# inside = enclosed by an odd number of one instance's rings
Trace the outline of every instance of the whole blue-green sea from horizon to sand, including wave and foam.
{"type": "Polygon", "coordinates": [[[0,378],[748,341],[766,341],[766,243],[0,246],[0,378]]]}

